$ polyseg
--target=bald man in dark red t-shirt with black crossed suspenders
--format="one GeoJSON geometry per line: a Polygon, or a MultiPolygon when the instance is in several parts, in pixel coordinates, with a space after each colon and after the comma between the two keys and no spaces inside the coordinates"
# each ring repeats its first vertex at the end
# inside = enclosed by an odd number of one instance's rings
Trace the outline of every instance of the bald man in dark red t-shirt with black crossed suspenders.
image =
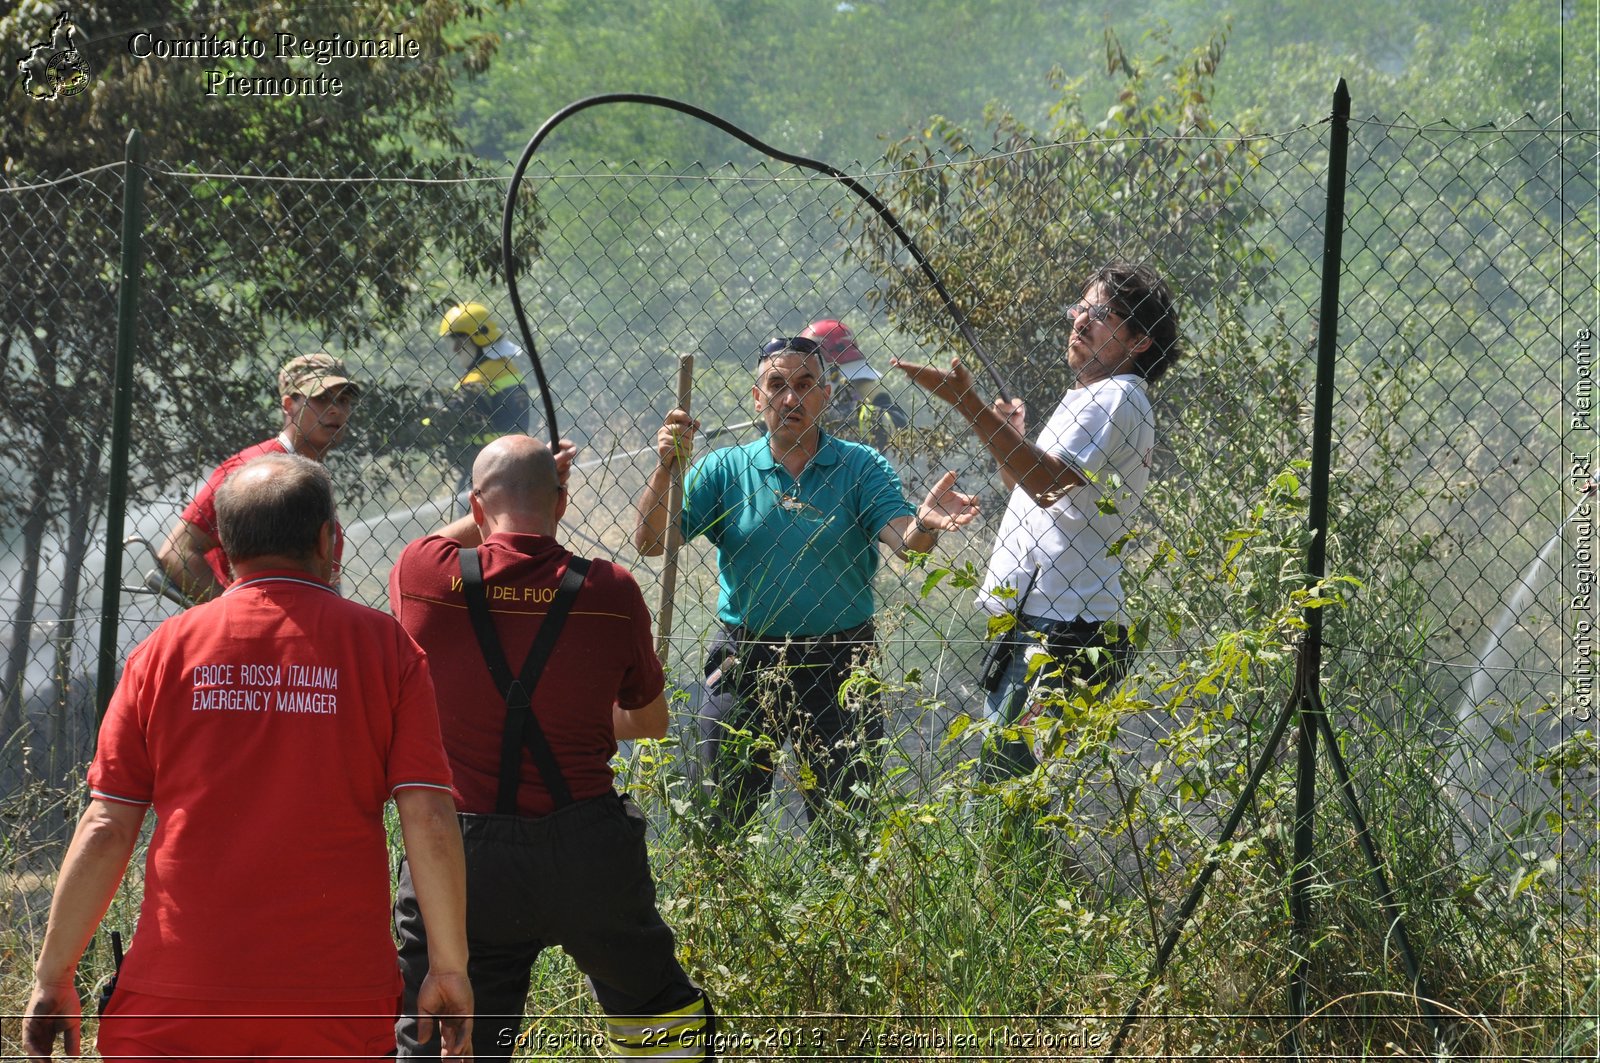
{"type": "MultiPolygon", "coordinates": [[[[571,464],[570,448],[562,459],[571,464]]],[[[472,514],[406,546],[389,576],[390,608],[448,692],[438,708],[467,853],[472,1050],[509,1058],[526,1047],[528,973],[546,946],[558,945],[589,977],[614,1053],[672,1049],[675,1060],[699,1060],[712,1042],[710,1009],[656,911],[645,820],[611,788],[618,738],[667,732],[650,610],[634,578],[611,562],[590,560],[578,575],[586,562],[555,540],[563,479],[539,440],[496,439],[472,464],[472,514]],[[563,612],[568,573],[571,612],[530,684],[525,660],[557,623],[552,613],[563,612]],[[504,684],[490,671],[485,637],[502,658],[504,684]],[[510,684],[518,672],[531,695],[520,703],[510,684]]],[[[432,945],[410,869],[400,876],[395,929],[410,1002],[426,985],[432,945]]],[[[437,1052],[405,1015],[400,1055],[437,1052]]]]}

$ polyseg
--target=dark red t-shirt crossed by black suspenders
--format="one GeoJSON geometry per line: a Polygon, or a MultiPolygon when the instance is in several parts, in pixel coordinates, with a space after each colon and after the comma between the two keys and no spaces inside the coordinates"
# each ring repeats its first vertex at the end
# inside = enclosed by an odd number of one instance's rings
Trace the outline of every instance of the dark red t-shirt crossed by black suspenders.
{"type": "MultiPolygon", "coordinates": [[[[430,535],[405,548],[389,573],[389,607],[427,650],[438,688],[438,719],[462,812],[494,812],[499,791],[501,696],[461,592],[459,544],[430,535]]],[[[490,615],[514,672],[522,671],[571,552],[544,535],[491,535],[480,548],[490,615]]],[[[595,560],[533,695],[533,712],[574,800],[611,789],[616,733],[611,706],[638,709],[661,693],[661,661],[650,610],[626,568],[595,560]]],[[[522,754],[517,812],[552,812],[550,794],[522,754]]]]}

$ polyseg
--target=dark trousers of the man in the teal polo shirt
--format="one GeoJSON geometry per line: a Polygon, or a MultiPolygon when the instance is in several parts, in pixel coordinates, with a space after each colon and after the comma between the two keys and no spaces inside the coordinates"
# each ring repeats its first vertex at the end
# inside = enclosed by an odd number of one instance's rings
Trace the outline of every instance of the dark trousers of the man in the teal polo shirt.
{"type": "Polygon", "coordinates": [[[814,776],[802,789],[818,818],[830,797],[853,808],[883,738],[877,698],[840,706],[840,687],[872,652],[872,624],[819,639],[752,640],[723,631],[706,655],[701,748],[710,764],[714,823],[738,831],[773,788],[773,751],[787,741],[814,776]]]}

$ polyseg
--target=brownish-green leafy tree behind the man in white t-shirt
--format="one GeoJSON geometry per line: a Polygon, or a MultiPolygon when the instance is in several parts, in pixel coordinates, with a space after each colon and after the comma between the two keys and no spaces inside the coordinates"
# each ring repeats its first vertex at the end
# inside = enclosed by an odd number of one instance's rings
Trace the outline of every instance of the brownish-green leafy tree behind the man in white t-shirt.
{"type": "MultiPolygon", "coordinates": [[[[1245,176],[1256,149],[1224,134],[1210,110],[1224,38],[1174,59],[1158,30],[1150,61],[1130,58],[1109,27],[1104,40],[1106,74],[1120,93],[1102,122],[1090,125],[1082,82],[1058,69],[1048,130],[990,110],[979,138],[936,115],[891,152],[891,207],[957,288],[994,367],[1030,402],[1053,402],[1069,386],[1056,357],[1072,330],[1066,307],[1083,277],[1112,258],[1152,261],[1190,304],[1264,291],[1267,258],[1246,235],[1256,202],[1245,176]]],[[[901,328],[925,344],[958,343],[949,314],[875,219],[859,227],[856,253],[901,328]]]]}

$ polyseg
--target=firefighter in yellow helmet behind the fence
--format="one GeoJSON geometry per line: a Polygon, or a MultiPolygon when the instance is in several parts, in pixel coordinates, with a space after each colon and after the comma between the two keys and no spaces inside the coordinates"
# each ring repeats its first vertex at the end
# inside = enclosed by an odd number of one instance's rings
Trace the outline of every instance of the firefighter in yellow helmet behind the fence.
{"type": "Polygon", "coordinates": [[[461,373],[445,400],[440,427],[451,440],[450,458],[459,474],[456,490],[464,496],[478,453],[501,435],[526,432],[533,402],[515,367],[522,347],[502,336],[490,307],[451,306],[438,322],[438,335],[450,338],[461,373]]]}

